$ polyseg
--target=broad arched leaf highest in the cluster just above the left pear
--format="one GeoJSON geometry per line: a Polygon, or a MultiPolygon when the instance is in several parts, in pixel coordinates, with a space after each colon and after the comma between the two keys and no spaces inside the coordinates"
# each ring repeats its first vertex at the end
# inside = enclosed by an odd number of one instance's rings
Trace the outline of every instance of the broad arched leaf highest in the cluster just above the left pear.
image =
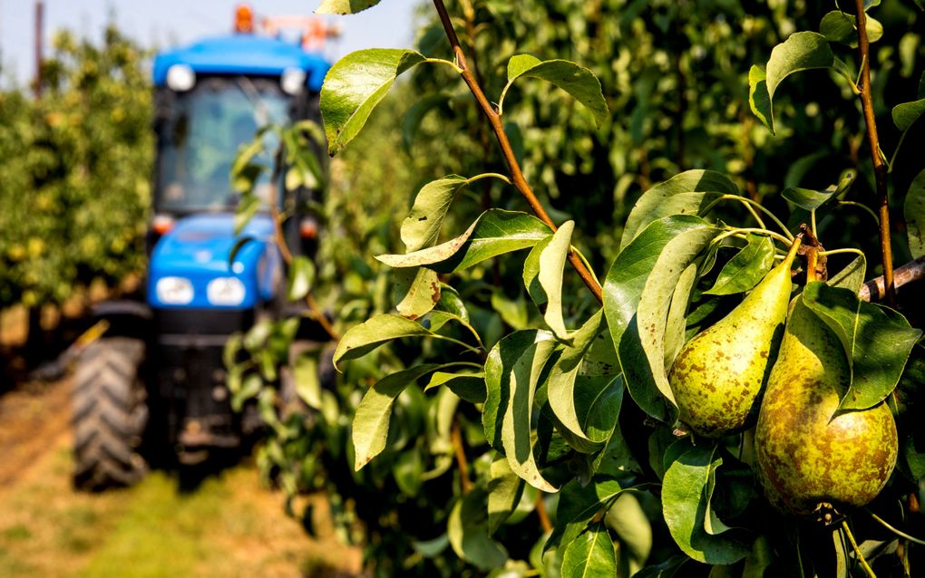
{"type": "Polygon", "coordinates": [[[620,251],[643,229],[670,215],[698,215],[709,203],[723,194],[737,195],[739,188],[722,173],[711,170],[688,170],[644,192],[626,217],[620,251]]]}

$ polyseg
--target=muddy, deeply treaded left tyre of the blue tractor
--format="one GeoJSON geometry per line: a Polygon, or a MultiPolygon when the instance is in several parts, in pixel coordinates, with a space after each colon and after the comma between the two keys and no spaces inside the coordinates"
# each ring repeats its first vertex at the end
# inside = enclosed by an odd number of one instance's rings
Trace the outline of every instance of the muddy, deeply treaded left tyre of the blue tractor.
{"type": "Polygon", "coordinates": [[[80,354],[73,390],[74,486],[131,486],[147,473],[139,453],[148,421],[140,373],[144,342],[102,338],[80,354]]]}

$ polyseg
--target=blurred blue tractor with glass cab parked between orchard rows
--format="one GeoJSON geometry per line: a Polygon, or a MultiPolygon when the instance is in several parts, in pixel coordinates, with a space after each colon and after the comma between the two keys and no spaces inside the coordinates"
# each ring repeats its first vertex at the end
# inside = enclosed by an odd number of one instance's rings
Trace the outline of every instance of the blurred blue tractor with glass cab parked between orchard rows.
{"type": "MultiPolygon", "coordinates": [[[[230,335],[281,314],[285,265],[268,210],[235,234],[239,196],[229,172],[240,145],[261,127],[318,119],[329,64],[305,43],[255,34],[248,6],[239,6],[236,19],[231,35],[154,59],[146,297],[97,307],[108,330],[78,360],[74,483],[81,489],[132,484],[150,455],[195,462],[215,449],[238,448],[253,427],[246,413],[231,410],[222,351],[230,335]],[[253,241],[229,263],[242,237],[253,241]]],[[[270,178],[255,187],[265,209],[283,203],[284,188],[270,178]],[[279,198],[270,198],[276,191],[279,198]]],[[[295,191],[295,206],[319,194],[295,191]]],[[[290,248],[311,256],[316,221],[299,209],[287,215],[290,248]]],[[[305,318],[300,334],[303,342],[320,341],[324,331],[305,318]]]]}

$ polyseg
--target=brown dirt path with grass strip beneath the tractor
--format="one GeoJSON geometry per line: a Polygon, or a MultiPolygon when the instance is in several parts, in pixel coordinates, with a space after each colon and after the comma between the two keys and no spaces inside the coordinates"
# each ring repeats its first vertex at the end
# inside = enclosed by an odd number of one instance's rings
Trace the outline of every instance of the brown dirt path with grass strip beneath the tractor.
{"type": "Polygon", "coordinates": [[[155,472],[127,490],[70,486],[69,382],[0,398],[0,576],[352,576],[359,552],[311,539],[250,464],[195,492],[155,472]]]}

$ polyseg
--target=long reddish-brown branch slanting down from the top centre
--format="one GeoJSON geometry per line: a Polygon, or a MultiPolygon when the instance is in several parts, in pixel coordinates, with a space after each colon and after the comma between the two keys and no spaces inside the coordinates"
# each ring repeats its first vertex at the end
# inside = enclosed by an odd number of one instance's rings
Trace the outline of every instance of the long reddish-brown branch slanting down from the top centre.
{"type": "MultiPolygon", "coordinates": [[[[524,196],[527,204],[530,205],[530,208],[533,210],[534,214],[539,217],[539,220],[546,223],[549,228],[555,231],[557,229],[556,224],[549,218],[543,204],[536,198],[536,194],[524,178],[524,172],[521,170],[520,164],[514,156],[511,141],[508,140],[508,135],[504,132],[504,127],[501,124],[501,117],[498,111],[488,102],[485,92],[482,92],[482,88],[479,86],[478,80],[475,79],[472,69],[466,64],[465,54],[462,52],[462,45],[460,44],[459,38],[456,36],[456,31],[453,30],[450,15],[447,13],[446,6],[443,5],[443,0],[434,0],[434,7],[437,8],[440,23],[443,25],[443,31],[446,32],[447,39],[450,41],[453,55],[456,58],[456,65],[462,69],[462,80],[466,83],[466,86],[469,87],[469,90],[472,92],[473,96],[475,96],[475,101],[487,117],[491,129],[495,133],[495,138],[498,140],[501,154],[504,156],[504,161],[507,163],[508,168],[511,169],[511,181],[514,188],[524,196]]],[[[581,277],[581,280],[585,282],[585,285],[591,290],[595,298],[602,302],[603,292],[600,289],[600,284],[594,278],[594,275],[587,269],[585,263],[578,256],[578,253],[574,252],[572,249],[569,250],[569,263],[572,264],[574,270],[578,273],[578,277],[581,277]]]]}

